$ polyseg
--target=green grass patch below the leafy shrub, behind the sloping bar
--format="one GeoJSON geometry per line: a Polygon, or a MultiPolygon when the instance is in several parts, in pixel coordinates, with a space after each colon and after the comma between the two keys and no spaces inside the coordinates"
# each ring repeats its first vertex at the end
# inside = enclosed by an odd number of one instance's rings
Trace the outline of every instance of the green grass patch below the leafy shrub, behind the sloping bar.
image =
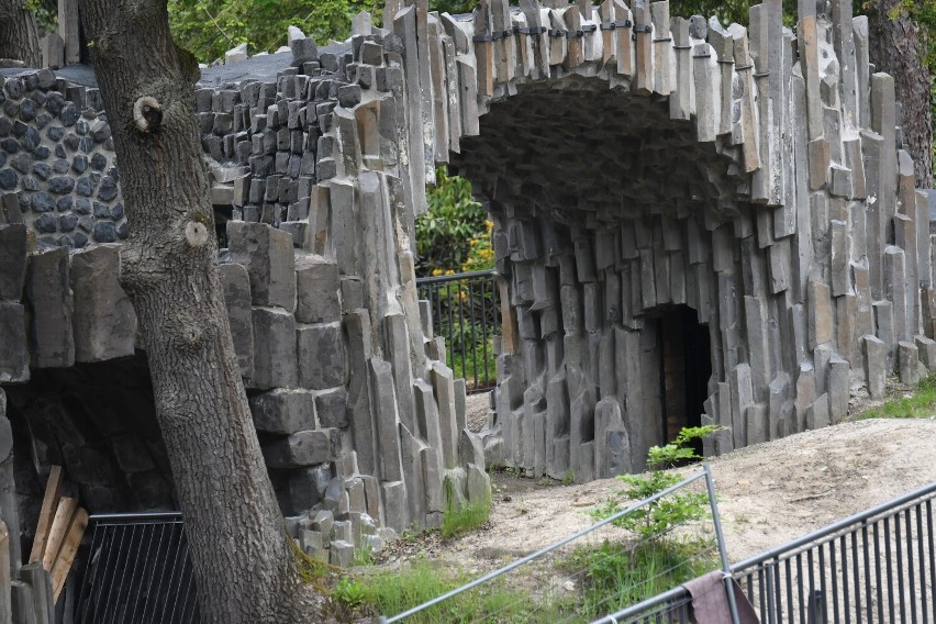
{"type": "Polygon", "coordinates": [[[710,541],[661,539],[636,546],[581,546],[559,564],[584,572],[580,613],[590,622],[668,591],[718,567],[710,541]]]}

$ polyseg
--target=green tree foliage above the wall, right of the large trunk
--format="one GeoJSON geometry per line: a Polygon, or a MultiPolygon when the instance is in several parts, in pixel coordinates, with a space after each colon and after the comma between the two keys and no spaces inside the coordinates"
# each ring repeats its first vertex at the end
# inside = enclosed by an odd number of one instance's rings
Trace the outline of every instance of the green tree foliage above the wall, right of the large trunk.
{"type": "Polygon", "coordinates": [[[360,11],[378,20],[382,0],[169,0],[169,26],[180,46],[202,63],[247,44],[250,54],[286,45],[286,31],[298,26],[324,45],[344,40],[360,11]]]}

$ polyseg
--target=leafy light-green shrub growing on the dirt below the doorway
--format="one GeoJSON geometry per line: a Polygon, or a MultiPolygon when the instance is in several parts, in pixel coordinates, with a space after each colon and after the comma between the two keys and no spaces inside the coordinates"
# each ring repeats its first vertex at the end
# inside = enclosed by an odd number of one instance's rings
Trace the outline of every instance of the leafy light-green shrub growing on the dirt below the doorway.
{"type": "MultiPolygon", "coordinates": [[[[721,428],[715,425],[683,427],[671,443],[666,446],[650,447],[647,452],[647,465],[655,469],[645,475],[617,477],[629,486],[621,494],[628,501],[642,501],[676,486],[682,479],[679,475],[665,472],[664,469],[676,464],[701,459],[690,445],[721,428]]],[[[703,517],[707,513],[707,503],[709,498],[704,492],[678,491],[615,520],[613,524],[637,533],[645,541],[661,541],[671,528],[703,517]]],[[[593,517],[602,519],[624,508],[620,501],[610,501],[590,513],[593,517]]]]}

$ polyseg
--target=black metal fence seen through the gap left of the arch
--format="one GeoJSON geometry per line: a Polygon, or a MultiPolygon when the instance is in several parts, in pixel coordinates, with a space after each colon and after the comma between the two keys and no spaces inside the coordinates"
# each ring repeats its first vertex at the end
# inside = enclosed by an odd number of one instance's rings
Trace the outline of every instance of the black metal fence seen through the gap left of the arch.
{"type": "Polygon", "coordinates": [[[433,331],[445,338],[446,364],[469,392],[497,383],[494,336],[500,335],[497,272],[472,271],[416,280],[432,307],[433,331]]]}

